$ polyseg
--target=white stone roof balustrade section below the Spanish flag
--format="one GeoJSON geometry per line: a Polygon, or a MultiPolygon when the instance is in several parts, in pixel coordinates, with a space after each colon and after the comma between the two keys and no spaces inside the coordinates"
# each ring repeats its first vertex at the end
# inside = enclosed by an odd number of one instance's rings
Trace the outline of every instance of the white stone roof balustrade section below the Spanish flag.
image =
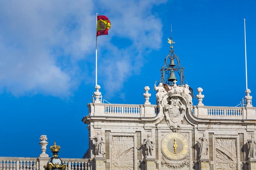
{"type": "Polygon", "coordinates": [[[90,116],[154,117],[157,105],[89,103],[90,116]]]}

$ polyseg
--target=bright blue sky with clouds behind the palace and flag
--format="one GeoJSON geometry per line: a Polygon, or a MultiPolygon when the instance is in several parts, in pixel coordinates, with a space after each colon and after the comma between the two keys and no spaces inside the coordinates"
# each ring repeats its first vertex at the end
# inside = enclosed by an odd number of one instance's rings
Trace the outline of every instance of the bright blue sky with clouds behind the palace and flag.
{"type": "Polygon", "coordinates": [[[50,156],[56,141],[60,157],[82,158],[89,139],[81,120],[95,91],[96,13],[111,21],[109,35],[98,37],[103,99],[143,104],[149,86],[155,104],[172,24],[175,54],[194,95],[202,87],[205,105],[239,104],[246,90],[245,18],[254,105],[255,6],[236,0],[0,1],[0,156],[37,157],[45,134],[50,156]]]}

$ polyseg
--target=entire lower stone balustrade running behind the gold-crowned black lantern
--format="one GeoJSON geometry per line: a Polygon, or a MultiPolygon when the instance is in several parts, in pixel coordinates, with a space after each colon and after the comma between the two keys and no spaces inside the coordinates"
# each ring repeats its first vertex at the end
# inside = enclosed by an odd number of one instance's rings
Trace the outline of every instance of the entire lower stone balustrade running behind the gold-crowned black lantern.
{"type": "MultiPolygon", "coordinates": [[[[50,158],[44,158],[49,160],[50,158]]],[[[61,158],[67,164],[65,170],[87,170],[88,159],[61,158]]],[[[47,161],[40,161],[38,158],[22,157],[0,157],[0,170],[42,170],[47,161]],[[39,164],[40,167],[39,168],[39,164]]]]}

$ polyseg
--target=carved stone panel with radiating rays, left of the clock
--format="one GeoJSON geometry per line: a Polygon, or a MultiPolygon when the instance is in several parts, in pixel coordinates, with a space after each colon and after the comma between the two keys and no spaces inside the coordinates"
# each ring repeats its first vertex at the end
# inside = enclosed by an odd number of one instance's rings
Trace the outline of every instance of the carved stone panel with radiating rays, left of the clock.
{"type": "Polygon", "coordinates": [[[112,170],[133,170],[134,139],[131,136],[113,136],[112,170]]]}

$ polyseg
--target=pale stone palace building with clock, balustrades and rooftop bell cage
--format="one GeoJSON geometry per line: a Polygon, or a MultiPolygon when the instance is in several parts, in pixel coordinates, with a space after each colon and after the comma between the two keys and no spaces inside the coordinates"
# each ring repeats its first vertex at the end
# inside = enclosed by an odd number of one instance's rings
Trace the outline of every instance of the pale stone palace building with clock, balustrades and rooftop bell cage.
{"type": "MultiPolygon", "coordinates": [[[[150,103],[149,86],[144,88],[145,103],[136,105],[102,103],[96,85],[89,113],[82,119],[88,125],[89,148],[81,159],[59,160],[62,170],[256,170],[256,107],[250,90],[245,90],[241,107],[205,106],[200,87],[198,103],[192,103],[185,68],[172,38],[169,43],[170,53],[154,86],[156,105],[150,103]]],[[[45,153],[46,135],[40,140],[38,158],[0,157],[0,170],[58,168],[47,164],[54,164],[54,158],[45,153]]]]}

